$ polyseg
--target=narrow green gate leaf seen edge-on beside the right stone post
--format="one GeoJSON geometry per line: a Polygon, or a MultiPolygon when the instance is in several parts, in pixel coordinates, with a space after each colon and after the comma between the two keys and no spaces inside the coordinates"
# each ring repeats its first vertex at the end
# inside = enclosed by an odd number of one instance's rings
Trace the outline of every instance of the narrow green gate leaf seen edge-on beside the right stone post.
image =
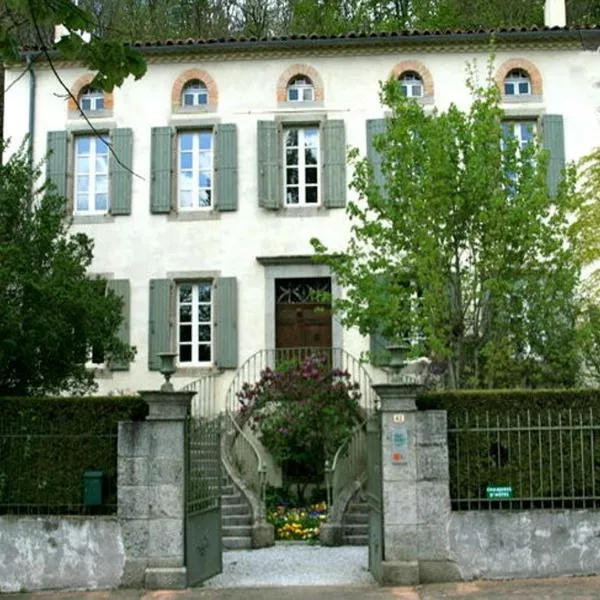
{"type": "Polygon", "coordinates": [[[381,583],[383,562],[383,506],[381,468],[381,416],[367,421],[367,502],[369,504],[369,571],[381,583]]]}

